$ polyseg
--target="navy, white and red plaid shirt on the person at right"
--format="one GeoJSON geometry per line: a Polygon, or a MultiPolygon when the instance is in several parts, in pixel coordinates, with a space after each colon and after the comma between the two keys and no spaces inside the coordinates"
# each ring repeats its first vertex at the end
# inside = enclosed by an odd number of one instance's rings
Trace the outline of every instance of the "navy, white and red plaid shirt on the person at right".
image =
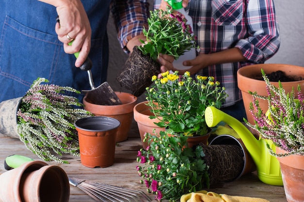
{"type": "MultiPolygon", "coordinates": [[[[160,0],[155,0],[155,8],[160,0]]],[[[229,97],[223,107],[241,100],[236,72],[240,67],[264,63],[280,45],[273,0],[190,0],[186,12],[193,20],[200,53],[238,47],[246,62],[212,65],[199,75],[213,76],[229,97]]]]}

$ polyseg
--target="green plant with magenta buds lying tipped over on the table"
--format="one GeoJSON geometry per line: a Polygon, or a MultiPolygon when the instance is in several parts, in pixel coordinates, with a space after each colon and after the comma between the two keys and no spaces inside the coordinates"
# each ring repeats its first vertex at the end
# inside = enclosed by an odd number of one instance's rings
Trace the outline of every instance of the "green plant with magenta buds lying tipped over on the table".
{"type": "Polygon", "coordinates": [[[183,134],[169,137],[167,132],[161,131],[145,136],[150,146],[138,151],[136,160],[144,165],[136,169],[142,177],[140,183],[156,195],[155,200],[177,202],[185,193],[209,187],[202,147],[186,147],[187,138],[183,134]]]}

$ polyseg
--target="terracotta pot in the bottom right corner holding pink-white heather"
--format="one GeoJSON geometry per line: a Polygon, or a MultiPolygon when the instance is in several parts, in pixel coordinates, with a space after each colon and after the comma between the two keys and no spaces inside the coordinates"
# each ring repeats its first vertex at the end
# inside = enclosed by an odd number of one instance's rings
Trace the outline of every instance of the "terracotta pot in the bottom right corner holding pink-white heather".
{"type": "MultiPolygon", "coordinates": [[[[287,153],[276,147],[276,153],[287,153]]],[[[277,157],[280,162],[286,199],[288,202],[304,202],[304,155],[277,157]]]]}

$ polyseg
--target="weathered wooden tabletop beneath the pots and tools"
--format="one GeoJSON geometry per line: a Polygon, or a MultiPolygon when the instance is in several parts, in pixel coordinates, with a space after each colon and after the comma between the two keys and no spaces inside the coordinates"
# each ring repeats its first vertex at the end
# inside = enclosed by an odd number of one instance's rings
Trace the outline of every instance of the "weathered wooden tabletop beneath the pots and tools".
{"type": "MultiPolygon", "coordinates": [[[[3,162],[8,155],[25,155],[35,160],[41,160],[28,151],[20,140],[8,138],[1,134],[0,148],[0,174],[5,172],[3,162]]],[[[141,140],[137,137],[119,142],[116,147],[115,163],[108,168],[87,168],[81,164],[80,157],[71,155],[64,155],[64,158],[69,161],[69,164],[47,163],[60,166],[66,171],[67,175],[71,177],[128,187],[146,193],[146,187],[139,184],[141,177],[138,176],[135,168],[136,165],[139,164],[136,162],[136,155],[140,148],[141,140]]],[[[283,186],[266,185],[259,181],[255,172],[246,174],[234,182],[211,187],[208,191],[235,196],[264,198],[270,202],[286,202],[283,186]]],[[[154,199],[154,195],[149,196],[151,199],[154,199]]],[[[95,202],[95,200],[86,195],[78,187],[71,186],[69,202],[95,202]]]]}

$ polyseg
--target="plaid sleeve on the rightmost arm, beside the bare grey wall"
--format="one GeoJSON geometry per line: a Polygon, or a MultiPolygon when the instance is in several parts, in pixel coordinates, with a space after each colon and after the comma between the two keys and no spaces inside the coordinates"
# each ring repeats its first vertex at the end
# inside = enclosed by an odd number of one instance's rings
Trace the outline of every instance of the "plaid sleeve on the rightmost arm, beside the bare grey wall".
{"type": "Polygon", "coordinates": [[[253,63],[263,63],[279,49],[279,28],[273,0],[247,0],[248,38],[241,39],[235,47],[253,63]]]}

